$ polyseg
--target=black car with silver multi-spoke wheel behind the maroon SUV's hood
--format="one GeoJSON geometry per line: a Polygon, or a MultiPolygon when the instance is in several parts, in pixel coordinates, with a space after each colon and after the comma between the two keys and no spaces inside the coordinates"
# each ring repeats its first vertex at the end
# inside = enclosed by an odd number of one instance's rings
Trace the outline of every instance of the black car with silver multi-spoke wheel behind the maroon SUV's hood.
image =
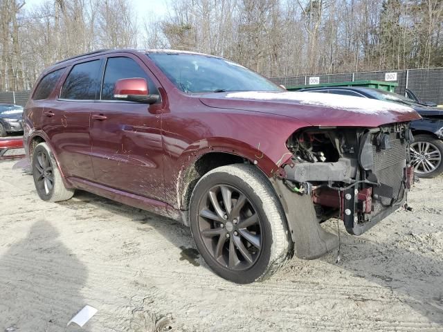
{"type": "Polygon", "coordinates": [[[334,86],[307,88],[299,91],[351,95],[354,97],[395,102],[412,107],[422,119],[411,123],[414,142],[410,145],[410,154],[414,172],[422,178],[433,178],[443,172],[443,109],[430,107],[415,102],[397,93],[365,87],[334,86]]]}

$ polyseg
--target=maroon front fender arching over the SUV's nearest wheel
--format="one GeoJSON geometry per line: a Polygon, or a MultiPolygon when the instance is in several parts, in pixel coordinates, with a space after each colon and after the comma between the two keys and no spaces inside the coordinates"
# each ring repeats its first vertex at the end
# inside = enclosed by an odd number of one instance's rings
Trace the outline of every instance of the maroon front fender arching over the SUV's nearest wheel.
{"type": "Polygon", "coordinates": [[[202,175],[195,169],[202,156],[223,152],[248,160],[268,177],[283,176],[281,166],[292,156],[287,139],[311,127],[285,116],[229,109],[185,109],[164,114],[162,121],[165,201],[181,210],[186,210],[188,188],[202,175]]]}

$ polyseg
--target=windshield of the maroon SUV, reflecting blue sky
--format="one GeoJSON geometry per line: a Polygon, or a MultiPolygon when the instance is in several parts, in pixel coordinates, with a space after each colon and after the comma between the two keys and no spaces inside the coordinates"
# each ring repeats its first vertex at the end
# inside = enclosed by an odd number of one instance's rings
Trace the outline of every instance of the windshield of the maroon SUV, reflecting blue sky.
{"type": "Polygon", "coordinates": [[[161,71],[186,93],[282,91],[244,66],[219,57],[186,53],[147,53],[161,71]]]}

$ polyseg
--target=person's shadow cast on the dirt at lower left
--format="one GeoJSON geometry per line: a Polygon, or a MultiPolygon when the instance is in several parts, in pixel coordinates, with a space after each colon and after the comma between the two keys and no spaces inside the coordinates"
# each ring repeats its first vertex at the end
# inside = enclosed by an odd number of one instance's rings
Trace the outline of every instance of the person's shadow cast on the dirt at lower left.
{"type": "Polygon", "coordinates": [[[51,223],[37,221],[1,255],[0,331],[80,331],[66,324],[86,305],[87,268],[57,237],[51,223]]]}

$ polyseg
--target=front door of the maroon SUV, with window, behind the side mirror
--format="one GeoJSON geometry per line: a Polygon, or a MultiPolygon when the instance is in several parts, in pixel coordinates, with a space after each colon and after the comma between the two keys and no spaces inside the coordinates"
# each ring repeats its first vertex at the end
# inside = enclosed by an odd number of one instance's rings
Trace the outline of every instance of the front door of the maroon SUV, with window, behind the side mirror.
{"type": "Polygon", "coordinates": [[[114,85],[123,78],[141,77],[150,94],[159,82],[135,55],[107,58],[100,101],[91,110],[91,156],[96,182],[162,201],[162,102],[141,104],[114,99],[114,85]]]}

